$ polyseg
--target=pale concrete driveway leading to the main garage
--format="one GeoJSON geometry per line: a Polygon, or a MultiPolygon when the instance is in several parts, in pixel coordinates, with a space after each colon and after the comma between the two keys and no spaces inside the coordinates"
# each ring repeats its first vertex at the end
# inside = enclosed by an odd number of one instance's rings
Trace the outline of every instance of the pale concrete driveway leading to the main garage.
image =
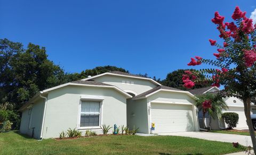
{"type": "Polygon", "coordinates": [[[236,134],[223,134],[223,133],[211,133],[211,132],[173,132],[173,133],[159,133],[158,135],[174,135],[194,137],[197,139],[220,141],[220,142],[238,142],[244,146],[252,146],[252,140],[250,136],[236,135],[236,134]]]}

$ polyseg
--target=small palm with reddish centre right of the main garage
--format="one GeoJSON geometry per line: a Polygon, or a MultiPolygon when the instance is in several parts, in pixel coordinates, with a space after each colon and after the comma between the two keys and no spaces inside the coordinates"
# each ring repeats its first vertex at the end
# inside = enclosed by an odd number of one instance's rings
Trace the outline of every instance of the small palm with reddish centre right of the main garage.
{"type": "Polygon", "coordinates": [[[222,110],[228,108],[227,104],[221,97],[212,93],[201,94],[195,97],[195,106],[198,111],[202,110],[203,113],[203,125],[205,125],[205,115],[209,114],[213,119],[220,118],[222,110]],[[209,106],[205,106],[208,104],[209,106]]]}

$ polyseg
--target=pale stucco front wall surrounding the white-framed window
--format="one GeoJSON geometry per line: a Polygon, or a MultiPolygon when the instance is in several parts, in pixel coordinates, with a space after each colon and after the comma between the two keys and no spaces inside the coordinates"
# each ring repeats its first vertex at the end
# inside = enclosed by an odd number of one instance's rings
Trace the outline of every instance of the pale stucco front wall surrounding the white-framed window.
{"type": "MultiPolygon", "coordinates": [[[[103,100],[102,124],[126,126],[126,97],[113,88],[96,88],[68,85],[50,91],[45,114],[43,138],[58,137],[68,128],[76,128],[78,124],[78,108],[81,96],[101,96],[103,100]]],[[[84,132],[85,130],[81,130],[84,132]]],[[[98,134],[101,130],[94,129],[98,134]]],[[[110,131],[112,132],[112,131],[110,131]]]]}

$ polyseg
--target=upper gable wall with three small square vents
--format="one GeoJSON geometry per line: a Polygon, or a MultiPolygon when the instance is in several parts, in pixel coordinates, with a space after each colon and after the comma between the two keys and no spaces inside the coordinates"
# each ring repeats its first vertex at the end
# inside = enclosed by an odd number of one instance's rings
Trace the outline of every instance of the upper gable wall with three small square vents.
{"type": "Polygon", "coordinates": [[[124,77],[124,76],[103,75],[103,76],[96,77],[93,80],[97,82],[103,82],[103,83],[115,85],[116,87],[122,90],[132,90],[135,93],[137,93],[136,95],[157,87],[155,83],[149,80],[135,79],[132,77],[124,77]],[[122,83],[123,81],[125,81],[125,83],[122,83]],[[126,83],[127,81],[130,84],[127,84],[126,83]],[[131,84],[131,82],[133,82],[134,84],[131,84]]]}

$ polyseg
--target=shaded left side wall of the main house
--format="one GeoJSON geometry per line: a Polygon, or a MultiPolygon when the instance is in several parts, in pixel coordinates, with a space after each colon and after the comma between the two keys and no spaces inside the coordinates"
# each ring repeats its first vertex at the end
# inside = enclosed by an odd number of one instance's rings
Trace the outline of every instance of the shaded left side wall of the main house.
{"type": "Polygon", "coordinates": [[[20,133],[27,134],[29,136],[32,135],[33,127],[34,128],[34,138],[40,139],[41,136],[41,126],[43,119],[43,111],[44,111],[44,99],[40,98],[34,102],[31,113],[30,127],[29,127],[29,110],[22,111],[21,124],[20,124],[20,133]]]}

